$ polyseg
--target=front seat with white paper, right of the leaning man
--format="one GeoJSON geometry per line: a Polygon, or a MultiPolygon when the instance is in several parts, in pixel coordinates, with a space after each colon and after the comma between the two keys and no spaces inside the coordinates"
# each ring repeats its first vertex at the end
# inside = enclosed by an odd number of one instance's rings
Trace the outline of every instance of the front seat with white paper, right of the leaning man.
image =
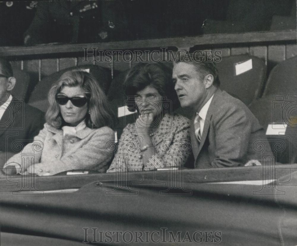
{"type": "Polygon", "coordinates": [[[266,131],[277,162],[297,163],[297,104],[294,99],[291,98],[290,101],[279,99],[275,95],[263,96],[254,100],[249,109],[266,131]]]}

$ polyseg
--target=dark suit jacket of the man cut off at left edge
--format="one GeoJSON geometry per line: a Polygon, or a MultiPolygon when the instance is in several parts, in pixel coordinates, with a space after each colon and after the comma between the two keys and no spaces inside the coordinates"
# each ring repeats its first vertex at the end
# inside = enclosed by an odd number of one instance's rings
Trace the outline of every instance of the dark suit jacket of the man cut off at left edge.
{"type": "Polygon", "coordinates": [[[22,146],[33,141],[44,122],[44,113],[39,109],[23,101],[11,101],[0,120],[0,152],[22,151],[22,146]]]}

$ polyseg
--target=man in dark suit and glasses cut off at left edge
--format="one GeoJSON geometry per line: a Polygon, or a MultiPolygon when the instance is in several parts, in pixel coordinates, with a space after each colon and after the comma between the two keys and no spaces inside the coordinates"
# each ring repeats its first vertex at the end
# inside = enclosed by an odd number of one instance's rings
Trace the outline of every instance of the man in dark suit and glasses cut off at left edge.
{"type": "Polygon", "coordinates": [[[44,123],[42,111],[11,95],[15,83],[10,62],[0,59],[0,165],[32,142],[44,123]]]}

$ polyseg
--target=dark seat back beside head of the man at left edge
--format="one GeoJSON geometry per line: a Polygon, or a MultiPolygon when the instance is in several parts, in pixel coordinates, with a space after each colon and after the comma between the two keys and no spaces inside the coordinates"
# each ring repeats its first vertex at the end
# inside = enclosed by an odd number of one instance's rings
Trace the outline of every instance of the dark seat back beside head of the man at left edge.
{"type": "Polygon", "coordinates": [[[19,100],[27,101],[28,99],[28,88],[30,84],[29,73],[23,70],[14,69],[13,76],[16,79],[15,87],[12,90],[12,95],[18,97],[19,100]]]}

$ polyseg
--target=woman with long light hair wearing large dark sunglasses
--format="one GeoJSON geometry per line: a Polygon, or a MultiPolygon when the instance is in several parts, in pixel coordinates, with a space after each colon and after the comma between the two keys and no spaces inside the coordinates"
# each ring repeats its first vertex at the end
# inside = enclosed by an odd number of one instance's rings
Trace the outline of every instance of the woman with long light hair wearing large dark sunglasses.
{"type": "Polygon", "coordinates": [[[8,165],[39,176],[73,169],[105,172],[112,158],[105,145],[114,140],[114,116],[96,79],[81,70],[66,72],[50,89],[48,100],[44,128],[22,151],[33,152],[35,164],[21,164],[20,153],[8,165]]]}

